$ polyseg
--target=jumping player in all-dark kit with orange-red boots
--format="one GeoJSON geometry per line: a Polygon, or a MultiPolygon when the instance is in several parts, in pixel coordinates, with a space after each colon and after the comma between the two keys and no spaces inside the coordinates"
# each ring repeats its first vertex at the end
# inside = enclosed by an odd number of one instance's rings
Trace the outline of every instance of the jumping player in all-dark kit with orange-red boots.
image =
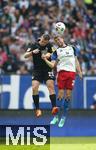
{"type": "Polygon", "coordinates": [[[52,114],[58,112],[58,107],[56,107],[56,95],[54,89],[54,73],[53,70],[46,64],[46,62],[42,59],[42,55],[44,54],[48,60],[51,59],[52,54],[52,45],[49,42],[50,37],[48,34],[43,34],[41,38],[30,44],[27,51],[25,52],[24,57],[28,58],[30,56],[33,57],[34,71],[32,77],[32,90],[33,90],[33,101],[36,108],[36,116],[39,117],[42,115],[42,111],[39,108],[39,94],[38,88],[40,83],[43,81],[46,83],[47,88],[50,93],[50,100],[52,104],[52,114]]]}

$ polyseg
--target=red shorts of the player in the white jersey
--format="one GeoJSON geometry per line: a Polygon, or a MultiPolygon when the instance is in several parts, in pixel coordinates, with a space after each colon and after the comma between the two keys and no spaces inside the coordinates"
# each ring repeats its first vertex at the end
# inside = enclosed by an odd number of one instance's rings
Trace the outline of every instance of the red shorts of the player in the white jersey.
{"type": "Polygon", "coordinates": [[[60,71],[57,74],[57,85],[59,89],[70,89],[72,90],[75,82],[75,72],[71,71],[60,71]]]}

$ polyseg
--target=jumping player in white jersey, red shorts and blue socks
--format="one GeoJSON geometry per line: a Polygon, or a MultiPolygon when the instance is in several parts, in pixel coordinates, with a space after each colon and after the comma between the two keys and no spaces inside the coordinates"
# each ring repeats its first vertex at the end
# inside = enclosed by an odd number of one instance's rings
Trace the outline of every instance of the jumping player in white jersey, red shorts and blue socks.
{"type": "Polygon", "coordinates": [[[75,83],[76,72],[82,79],[82,71],[79,61],[76,56],[76,48],[72,45],[66,45],[64,39],[60,36],[54,38],[58,48],[53,52],[51,62],[42,57],[45,62],[51,67],[57,67],[57,85],[58,85],[58,100],[63,105],[64,113],[59,121],[59,115],[56,115],[51,124],[59,122],[58,126],[63,127],[69,109],[69,103],[71,100],[72,89],[75,83]],[[64,91],[66,90],[66,96],[64,97],[64,91]]]}

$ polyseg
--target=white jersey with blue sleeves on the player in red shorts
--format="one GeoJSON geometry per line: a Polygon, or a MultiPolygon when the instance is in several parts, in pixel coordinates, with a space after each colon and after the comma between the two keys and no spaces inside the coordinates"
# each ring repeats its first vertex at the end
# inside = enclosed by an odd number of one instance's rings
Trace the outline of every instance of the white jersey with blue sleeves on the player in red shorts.
{"type": "Polygon", "coordinates": [[[61,70],[76,72],[75,49],[71,45],[59,47],[53,53],[52,60],[57,60],[57,72],[61,70]]]}

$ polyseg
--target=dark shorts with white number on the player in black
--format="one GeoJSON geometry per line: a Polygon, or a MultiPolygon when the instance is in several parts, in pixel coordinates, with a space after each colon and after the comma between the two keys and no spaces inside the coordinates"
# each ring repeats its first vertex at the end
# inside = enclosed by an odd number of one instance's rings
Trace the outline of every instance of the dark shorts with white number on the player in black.
{"type": "Polygon", "coordinates": [[[32,74],[32,80],[37,80],[39,82],[46,82],[47,80],[55,80],[53,71],[41,71],[34,70],[32,74]]]}

